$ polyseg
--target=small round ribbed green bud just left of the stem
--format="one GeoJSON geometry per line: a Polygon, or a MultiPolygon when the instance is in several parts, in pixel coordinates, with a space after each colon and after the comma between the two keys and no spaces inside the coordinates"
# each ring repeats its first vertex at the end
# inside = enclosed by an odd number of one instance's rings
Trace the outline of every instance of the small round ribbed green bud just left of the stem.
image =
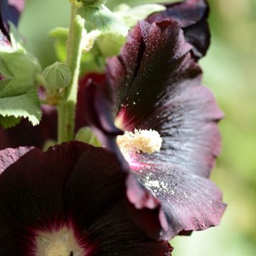
{"type": "Polygon", "coordinates": [[[43,70],[43,78],[47,89],[58,90],[69,85],[71,73],[64,63],[56,62],[43,70]]]}

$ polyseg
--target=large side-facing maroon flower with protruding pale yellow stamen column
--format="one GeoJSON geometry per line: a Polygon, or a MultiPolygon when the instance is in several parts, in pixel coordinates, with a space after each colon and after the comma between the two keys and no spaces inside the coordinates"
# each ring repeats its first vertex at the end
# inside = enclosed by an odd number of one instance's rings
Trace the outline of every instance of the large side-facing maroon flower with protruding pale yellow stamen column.
{"type": "MultiPolygon", "coordinates": [[[[201,85],[191,49],[176,21],[142,21],[121,55],[107,61],[105,84],[88,83],[85,95],[88,122],[119,159],[114,137],[120,133],[111,129],[111,114],[125,132],[117,137],[119,149],[166,213],[161,239],[218,225],[225,210],[222,193],[208,179],[223,113],[201,85]]],[[[140,195],[128,197],[142,208],[140,195]]]]}

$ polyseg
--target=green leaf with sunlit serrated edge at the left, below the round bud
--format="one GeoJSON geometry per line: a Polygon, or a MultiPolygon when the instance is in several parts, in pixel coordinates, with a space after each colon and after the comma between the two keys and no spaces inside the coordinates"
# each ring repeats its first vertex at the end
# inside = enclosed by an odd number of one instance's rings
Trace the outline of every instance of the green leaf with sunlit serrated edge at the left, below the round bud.
{"type": "Polygon", "coordinates": [[[0,115],[3,117],[28,118],[33,124],[39,124],[42,116],[40,101],[36,90],[28,90],[23,95],[0,98],[0,115]]]}

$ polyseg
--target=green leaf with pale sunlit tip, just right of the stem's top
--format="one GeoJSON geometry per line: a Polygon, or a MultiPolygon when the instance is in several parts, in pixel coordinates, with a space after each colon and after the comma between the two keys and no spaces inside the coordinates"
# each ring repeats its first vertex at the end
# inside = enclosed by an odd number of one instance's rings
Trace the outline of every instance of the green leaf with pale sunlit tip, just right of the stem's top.
{"type": "Polygon", "coordinates": [[[82,6],[78,14],[85,18],[85,21],[98,29],[102,34],[117,33],[122,36],[127,36],[128,27],[126,24],[117,18],[105,5],[99,7],[82,6]]]}

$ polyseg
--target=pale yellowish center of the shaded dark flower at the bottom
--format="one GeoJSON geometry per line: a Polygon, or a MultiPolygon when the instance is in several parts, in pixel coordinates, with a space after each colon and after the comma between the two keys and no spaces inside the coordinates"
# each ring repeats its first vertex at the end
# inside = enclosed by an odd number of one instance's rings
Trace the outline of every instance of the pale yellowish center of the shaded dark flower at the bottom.
{"type": "Polygon", "coordinates": [[[73,232],[63,228],[53,233],[38,233],[36,256],[84,256],[85,250],[78,245],[73,232]]]}

